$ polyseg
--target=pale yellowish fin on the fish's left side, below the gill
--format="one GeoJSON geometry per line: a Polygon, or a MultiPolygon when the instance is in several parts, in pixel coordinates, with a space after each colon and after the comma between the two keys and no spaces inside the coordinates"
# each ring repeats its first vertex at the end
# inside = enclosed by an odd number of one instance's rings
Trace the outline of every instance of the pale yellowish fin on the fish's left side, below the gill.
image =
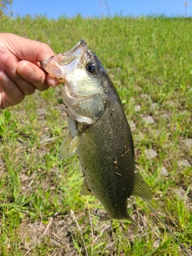
{"type": "Polygon", "coordinates": [[[62,145],[60,146],[60,152],[63,158],[66,159],[72,157],[75,154],[75,151],[77,150],[80,141],[80,135],[77,135],[73,138],[71,134],[68,134],[62,142],[62,145]]]}

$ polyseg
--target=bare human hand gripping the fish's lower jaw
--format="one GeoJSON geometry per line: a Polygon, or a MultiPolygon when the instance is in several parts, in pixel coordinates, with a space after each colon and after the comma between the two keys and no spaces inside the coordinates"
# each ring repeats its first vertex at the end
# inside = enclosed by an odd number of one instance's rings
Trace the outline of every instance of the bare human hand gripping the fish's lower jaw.
{"type": "Polygon", "coordinates": [[[22,102],[36,89],[58,86],[59,82],[40,65],[40,61],[53,55],[45,43],[0,33],[0,109],[22,102]]]}

